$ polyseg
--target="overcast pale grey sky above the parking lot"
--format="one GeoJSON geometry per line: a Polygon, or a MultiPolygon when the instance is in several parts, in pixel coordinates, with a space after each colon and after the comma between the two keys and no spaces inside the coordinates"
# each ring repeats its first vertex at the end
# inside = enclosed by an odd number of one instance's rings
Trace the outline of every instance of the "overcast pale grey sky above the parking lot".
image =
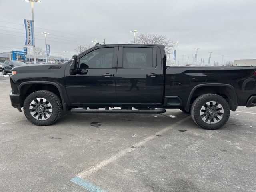
{"type": "MultiPolygon", "coordinates": [[[[129,31],[138,30],[138,35],[161,34],[178,40],[180,61],[182,55],[192,61],[194,48],[199,48],[198,60],[204,58],[205,63],[208,52],[213,52],[212,62],[221,62],[222,54],[226,60],[256,59],[256,0],[41,1],[35,3],[35,42],[44,48],[44,37],[38,32],[49,32],[52,55],[63,56],[64,50],[74,54],[78,44],[92,40],[128,42],[133,39],[129,31]]],[[[0,0],[0,7],[0,52],[22,50],[23,19],[31,19],[30,3],[0,0]]]]}

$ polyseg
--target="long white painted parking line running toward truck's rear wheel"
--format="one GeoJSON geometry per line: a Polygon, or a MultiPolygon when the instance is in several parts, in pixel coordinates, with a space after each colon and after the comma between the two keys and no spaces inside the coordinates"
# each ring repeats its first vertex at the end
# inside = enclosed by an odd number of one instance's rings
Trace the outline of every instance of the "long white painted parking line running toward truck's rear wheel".
{"type": "Polygon", "coordinates": [[[142,140],[141,142],[138,142],[136,144],[134,144],[133,146],[130,146],[128,148],[125,148],[124,150],[118,152],[117,154],[113,155],[112,157],[103,160],[102,162],[96,164],[95,166],[91,166],[90,168],[78,173],[76,176],[80,177],[82,179],[86,178],[87,176],[89,176],[90,174],[100,170],[101,168],[103,168],[104,166],[110,164],[111,162],[114,162],[116,160],[118,160],[119,158],[121,158],[122,156],[125,156],[127,153],[132,152],[134,149],[144,145],[146,142],[153,140],[154,138],[157,138],[157,135],[161,135],[164,134],[165,132],[167,132],[168,130],[174,128],[175,126],[183,123],[184,121],[188,120],[191,116],[187,116],[186,118],[179,120],[178,122],[172,124],[171,126],[168,126],[158,132],[156,132],[155,134],[148,136],[147,138],[145,138],[144,140],[142,140]]]}

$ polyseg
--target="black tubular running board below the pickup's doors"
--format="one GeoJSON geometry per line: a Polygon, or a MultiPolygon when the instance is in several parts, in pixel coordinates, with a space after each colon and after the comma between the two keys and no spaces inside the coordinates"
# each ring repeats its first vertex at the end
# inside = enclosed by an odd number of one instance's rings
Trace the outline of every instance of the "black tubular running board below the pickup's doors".
{"type": "Polygon", "coordinates": [[[111,110],[91,110],[91,109],[71,109],[72,113],[165,113],[165,109],[154,110],[129,110],[129,109],[111,109],[111,110]]]}

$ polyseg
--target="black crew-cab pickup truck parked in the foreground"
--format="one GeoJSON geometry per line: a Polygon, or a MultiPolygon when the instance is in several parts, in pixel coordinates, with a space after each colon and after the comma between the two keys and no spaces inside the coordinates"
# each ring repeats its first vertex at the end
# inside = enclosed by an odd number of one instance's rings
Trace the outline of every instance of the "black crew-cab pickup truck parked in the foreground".
{"type": "Polygon", "coordinates": [[[18,66],[12,106],[36,125],[75,113],[191,112],[205,129],[223,126],[230,110],[256,106],[255,67],[167,67],[164,46],[94,46],[63,64],[18,66]]]}

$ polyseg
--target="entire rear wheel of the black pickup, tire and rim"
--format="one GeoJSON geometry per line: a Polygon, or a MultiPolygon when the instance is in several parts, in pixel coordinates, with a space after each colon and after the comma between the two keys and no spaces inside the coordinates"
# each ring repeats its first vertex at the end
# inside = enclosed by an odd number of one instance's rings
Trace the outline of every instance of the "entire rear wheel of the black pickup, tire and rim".
{"type": "Polygon", "coordinates": [[[218,129],[228,121],[230,107],[222,96],[203,94],[193,102],[191,116],[204,129],[218,129]]]}

